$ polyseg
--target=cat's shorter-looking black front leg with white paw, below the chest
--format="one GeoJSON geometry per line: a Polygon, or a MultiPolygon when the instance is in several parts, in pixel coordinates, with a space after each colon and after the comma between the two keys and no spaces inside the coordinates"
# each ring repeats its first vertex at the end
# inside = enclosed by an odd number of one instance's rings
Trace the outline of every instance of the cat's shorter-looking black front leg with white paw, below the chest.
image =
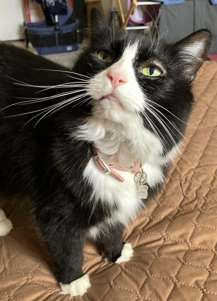
{"type": "Polygon", "coordinates": [[[107,233],[101,234],[98,240],[104,261],[127,262],[133,256],[131,244],[122,241],[122,233],[122,225],[115,225],[110,226],[107,233]]]}

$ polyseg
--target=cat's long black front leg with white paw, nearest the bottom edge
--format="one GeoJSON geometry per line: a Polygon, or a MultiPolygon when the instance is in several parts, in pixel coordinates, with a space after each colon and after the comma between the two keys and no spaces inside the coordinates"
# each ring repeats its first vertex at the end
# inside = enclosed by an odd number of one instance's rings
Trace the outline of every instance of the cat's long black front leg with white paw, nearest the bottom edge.
{"type": "Polygon", "coordinates": [[[74,203],[46,200],[43,205],[42,201],[36,208],[36,218],[56,263],[62,293],[82,296],[90,287],[89,277],[82,270],[86,231],[74,203]]]}

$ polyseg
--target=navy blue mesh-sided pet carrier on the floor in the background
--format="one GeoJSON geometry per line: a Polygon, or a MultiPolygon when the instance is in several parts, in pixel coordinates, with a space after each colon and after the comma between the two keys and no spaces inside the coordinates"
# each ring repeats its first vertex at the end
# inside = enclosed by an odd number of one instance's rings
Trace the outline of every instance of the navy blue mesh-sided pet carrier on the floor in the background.
{"type": "Polygon", "coordinates": [[[44,5],[44,8],[43,6],[42,8],[46,20],[24,24],[27,45],[31,42],[38,54],[53,54],[77,50],[78,22],[74,17],[73,9],[66,3],[64,4],[64,0],[53,1],[53,3],[58,3],[56,8],[54,6],[47,6],[46,1],[36,1],[44,5]]]}

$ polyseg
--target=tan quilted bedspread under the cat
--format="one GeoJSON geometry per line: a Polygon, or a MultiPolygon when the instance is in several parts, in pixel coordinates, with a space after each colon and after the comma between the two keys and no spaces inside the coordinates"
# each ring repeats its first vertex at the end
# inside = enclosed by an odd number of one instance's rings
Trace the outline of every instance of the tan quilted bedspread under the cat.
{"type": "MultiPolygon", "coordinates": [[[[171,167],[164,192],[124,232],[130,262],[102,262],[84,250],[92,286],[77,301],[217,301],[217,63],[206,62],[194,87],[197,105],[183,156],[171,167]],[[199,146],[197,146],[197,145],[199,146]]],[[[35,234],[26,205],[1,200],[14,230],[0,238],[1,301],[65,301],[52,260],[35,234]]]]}

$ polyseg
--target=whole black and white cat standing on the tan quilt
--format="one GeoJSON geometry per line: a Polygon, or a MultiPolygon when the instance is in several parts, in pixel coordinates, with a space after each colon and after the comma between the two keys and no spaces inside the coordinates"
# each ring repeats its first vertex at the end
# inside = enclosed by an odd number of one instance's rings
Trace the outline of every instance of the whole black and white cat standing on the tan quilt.
{"type": "MultiPolygon", "coordinates": [[[[206,29],[169,45],[113,33],[97,10],[91,29],[72,70],[0,44],[1,193],[31,197],[71,296],[90,286],[82,271],[87,236],[104,260],[131,258],[123,227],[156,195],[179,154],[191,84],[211,41],[206,29]]],[[[11,229],[0,209],[0,235],[11,229]]]]}

